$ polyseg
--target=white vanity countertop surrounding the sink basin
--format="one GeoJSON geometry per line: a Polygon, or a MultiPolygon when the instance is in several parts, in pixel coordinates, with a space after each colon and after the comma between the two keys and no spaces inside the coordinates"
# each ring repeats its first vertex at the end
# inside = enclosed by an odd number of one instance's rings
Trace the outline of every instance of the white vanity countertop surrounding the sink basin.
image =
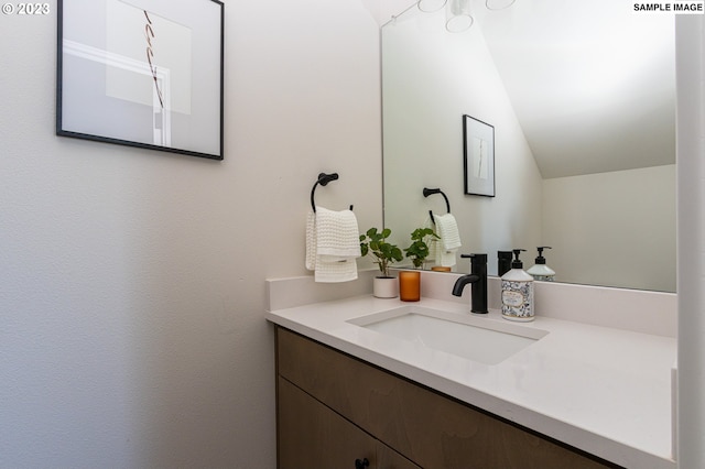
{"type": "MultiPolygon", "coordinates": [[[[347,323],[409,305],[361,295],[271,310],[267,319],[618,465],[675,468],[674,338],[536,316],[512,324],[549,334],[489,366],[347,323]]],[[[457,302],[413,305],[470,314],[457,302]]],[[[497,310],[481,316],[506,323],[497,310]]]]}

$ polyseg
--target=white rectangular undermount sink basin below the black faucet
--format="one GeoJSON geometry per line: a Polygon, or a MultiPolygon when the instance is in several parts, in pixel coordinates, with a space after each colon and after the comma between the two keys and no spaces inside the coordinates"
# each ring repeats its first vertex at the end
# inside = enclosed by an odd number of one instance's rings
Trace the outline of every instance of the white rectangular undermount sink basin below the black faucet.
{"type": "Polygon", "coordinates": [[[509,321],[419,306],[402,306],[348,323],[486,364],[497,364],[549,334],[509,321]]]}

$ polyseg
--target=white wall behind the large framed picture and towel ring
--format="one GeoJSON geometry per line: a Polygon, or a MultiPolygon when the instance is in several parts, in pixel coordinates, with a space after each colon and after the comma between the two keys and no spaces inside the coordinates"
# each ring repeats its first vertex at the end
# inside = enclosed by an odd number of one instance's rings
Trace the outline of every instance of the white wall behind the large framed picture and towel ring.
{"type": "Polygon", "coordinates": [[[321,171],[381,222],[371,10],[227,0],[215,162],[56,137],[50,7],[0,19],[0,467],[274,467],[264,279],[321,171]]]}

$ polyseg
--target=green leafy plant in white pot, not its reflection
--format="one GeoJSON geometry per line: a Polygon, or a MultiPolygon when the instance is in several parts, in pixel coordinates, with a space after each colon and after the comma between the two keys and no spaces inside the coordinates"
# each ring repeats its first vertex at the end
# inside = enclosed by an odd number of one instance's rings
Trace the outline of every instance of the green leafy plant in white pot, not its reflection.
{"type": "Polygon", "coordinates": [[[399,282],[397,277],[389,274],[389,266],[404,259],[404,254],[399,247],[387,242],[391,232],[392,230],[389,228],[381,231],[377,228],[370,228],[365,234],[360,234],[361,254],[364,257],[371,254],[381,273],[373,281],[373,294],[380,298],[393,298],[399,293],[399,282]]]}

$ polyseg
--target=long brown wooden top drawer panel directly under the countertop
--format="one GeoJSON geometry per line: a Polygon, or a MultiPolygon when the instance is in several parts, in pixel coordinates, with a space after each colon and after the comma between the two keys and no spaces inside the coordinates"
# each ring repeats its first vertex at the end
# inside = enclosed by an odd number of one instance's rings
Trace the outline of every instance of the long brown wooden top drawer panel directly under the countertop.
{"type": "Polygon", "coordinates": [[[279,374],[426,468],[617,467],[281,327],[279,374]]]}

